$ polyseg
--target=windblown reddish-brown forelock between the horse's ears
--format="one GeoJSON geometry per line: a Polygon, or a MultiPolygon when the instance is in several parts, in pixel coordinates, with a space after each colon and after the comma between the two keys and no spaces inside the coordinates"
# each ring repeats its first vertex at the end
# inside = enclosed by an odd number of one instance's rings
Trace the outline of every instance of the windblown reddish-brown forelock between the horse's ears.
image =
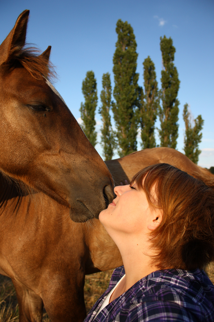
{"type": "Polygon", "coordinates": [[[57,78],[55,66],[35,47],[23,47],[10,63],[22,65],[37,80],[45,77],[53,81],[57,78]]]}

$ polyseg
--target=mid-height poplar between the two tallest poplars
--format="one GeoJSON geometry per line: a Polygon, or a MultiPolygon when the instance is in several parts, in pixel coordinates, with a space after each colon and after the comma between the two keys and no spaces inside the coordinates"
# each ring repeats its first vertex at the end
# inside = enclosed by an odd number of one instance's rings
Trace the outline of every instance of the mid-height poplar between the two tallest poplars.
{"type": "Polygon", "coordinates": [[[143,62],[143,77],[145,101],[141,103],[140,124],[141,146],[146,149],[156,146],[154,130],[159,107],[158,82],[156,81],[155,65],[150,56],[143,62]]]}

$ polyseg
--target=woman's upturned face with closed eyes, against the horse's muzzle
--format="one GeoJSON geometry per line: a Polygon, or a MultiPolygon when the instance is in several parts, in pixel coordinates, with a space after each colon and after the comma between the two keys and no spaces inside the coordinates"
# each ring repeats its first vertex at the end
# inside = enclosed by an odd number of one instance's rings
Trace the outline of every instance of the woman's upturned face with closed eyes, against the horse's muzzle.
{"type": "Polygon", "coordinates": [[[116,186],[116,198],[101,211],[99,220],[112,237],[114,232],[149,232],[150,221],[158,217],[158,210],[149,206],[146,194],[137,185],[116,186]]]}

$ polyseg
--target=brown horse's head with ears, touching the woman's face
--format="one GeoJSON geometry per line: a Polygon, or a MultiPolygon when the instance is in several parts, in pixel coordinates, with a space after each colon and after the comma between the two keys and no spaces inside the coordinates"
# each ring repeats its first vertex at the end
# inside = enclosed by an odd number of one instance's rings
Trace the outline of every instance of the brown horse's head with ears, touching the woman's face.
{"type": "Polygon", "coordinates": [[[69,207],[74,221],[98,218],[113,198],[111,174],[48,81],[51,47],[24,47],[28,16],[0,46],[0,171],[69,207]]]}

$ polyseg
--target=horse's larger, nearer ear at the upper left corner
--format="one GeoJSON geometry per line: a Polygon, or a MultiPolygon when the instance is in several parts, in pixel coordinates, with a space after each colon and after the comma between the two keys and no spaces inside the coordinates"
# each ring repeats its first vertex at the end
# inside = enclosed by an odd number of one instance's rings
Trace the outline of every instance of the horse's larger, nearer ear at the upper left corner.
{"type": "Polygon", "coordinates": [[[16,57],[25,44],[28,16],[30,10],[24,10],[16,20],[15,26],[0,46],[0,65],[16,57]]]}

